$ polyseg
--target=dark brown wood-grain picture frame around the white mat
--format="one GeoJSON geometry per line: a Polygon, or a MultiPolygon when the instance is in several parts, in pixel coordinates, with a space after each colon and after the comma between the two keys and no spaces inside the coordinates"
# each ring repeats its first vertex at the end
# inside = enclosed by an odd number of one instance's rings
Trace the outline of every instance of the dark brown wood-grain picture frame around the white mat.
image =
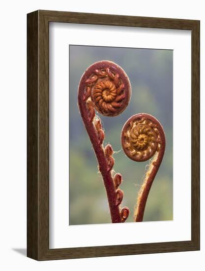
{"type": "Polygon", "coordinates": [[[28,14],[27,255],[57,260],[200,249],[200,21],[37,10],[28,14]],[[191,240],[49,248],[49,23],[191,31],[191,240]]]}

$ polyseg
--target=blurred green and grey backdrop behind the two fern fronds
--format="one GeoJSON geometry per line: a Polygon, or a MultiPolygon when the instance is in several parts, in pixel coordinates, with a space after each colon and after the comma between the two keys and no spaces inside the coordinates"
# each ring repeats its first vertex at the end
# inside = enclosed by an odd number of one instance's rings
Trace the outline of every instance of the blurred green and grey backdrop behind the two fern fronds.
{"type": "Polygon", "coordinates": [[[145,112],[156,117],[166,133],[166,152],[152,184],[144,221],[173,219],[173,51],[138,48],[69,46],[69,225],[111,223],[106,192],[77,105],[79,80],[96,61],[110,60],[129,76],[132,96],[127,109],[117,117],[98,114],[105,129],[104,143],[114,151],[114,170],[122,174],[122,206],[133,210],[147,162],[127,158],[121,149],[121,129],[127,119],[145,112]]]}

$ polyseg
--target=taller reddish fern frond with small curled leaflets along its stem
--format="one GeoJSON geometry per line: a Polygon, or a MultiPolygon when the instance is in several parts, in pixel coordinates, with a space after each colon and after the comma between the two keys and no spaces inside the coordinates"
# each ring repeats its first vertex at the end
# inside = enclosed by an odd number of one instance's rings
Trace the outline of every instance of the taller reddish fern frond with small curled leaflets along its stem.
{"type": "Polygon", "coordinates": [[[112,223],[124,222],[129,215],[129,209],[119,209],[123,192],[118,186],[122,177],[119,173],[112,176],[114,151],[110,144],[105,148],[103,146],[105,134],[100,118],[95,116],[95,109],[105,116],[117,116],[128,105],[130,95],[131,87],[126,73],[110,61],[96,62],[88,67],[78,88],[80,113],[103,177],[112,223]]]}

